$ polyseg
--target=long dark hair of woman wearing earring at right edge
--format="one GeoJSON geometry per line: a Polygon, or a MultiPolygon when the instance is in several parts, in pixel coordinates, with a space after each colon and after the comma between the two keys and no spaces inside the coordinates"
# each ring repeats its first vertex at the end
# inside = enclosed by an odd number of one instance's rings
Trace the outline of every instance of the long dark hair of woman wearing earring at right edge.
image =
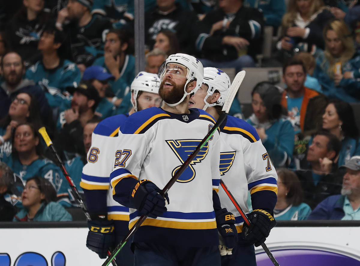
{"type": "Polygon", "coordinates": [[[359,138],[359,128],[356,125],[354,110],[347,102],[339,99],[331,99],[328,105],[332,103],[335,106],[339,119],[342,121],[341,130],[345,137],[359,138]]]}

